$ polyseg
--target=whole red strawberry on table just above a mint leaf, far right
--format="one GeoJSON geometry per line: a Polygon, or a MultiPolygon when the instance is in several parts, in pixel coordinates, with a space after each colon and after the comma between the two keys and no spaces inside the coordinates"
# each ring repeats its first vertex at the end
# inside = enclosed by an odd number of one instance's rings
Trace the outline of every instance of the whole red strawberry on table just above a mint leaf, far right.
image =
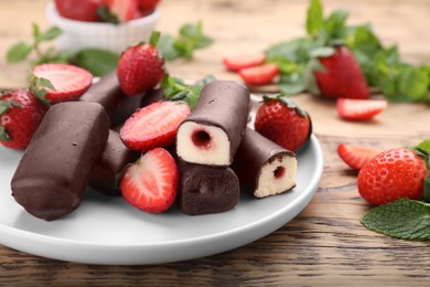
{"type": "Polygon", "coordinates": [[[426,174],[426,162],[413,150],[389,149],[370,159],[359,170],[358,192],[374,205],[401,198],[420,200],[426,174]]]}

